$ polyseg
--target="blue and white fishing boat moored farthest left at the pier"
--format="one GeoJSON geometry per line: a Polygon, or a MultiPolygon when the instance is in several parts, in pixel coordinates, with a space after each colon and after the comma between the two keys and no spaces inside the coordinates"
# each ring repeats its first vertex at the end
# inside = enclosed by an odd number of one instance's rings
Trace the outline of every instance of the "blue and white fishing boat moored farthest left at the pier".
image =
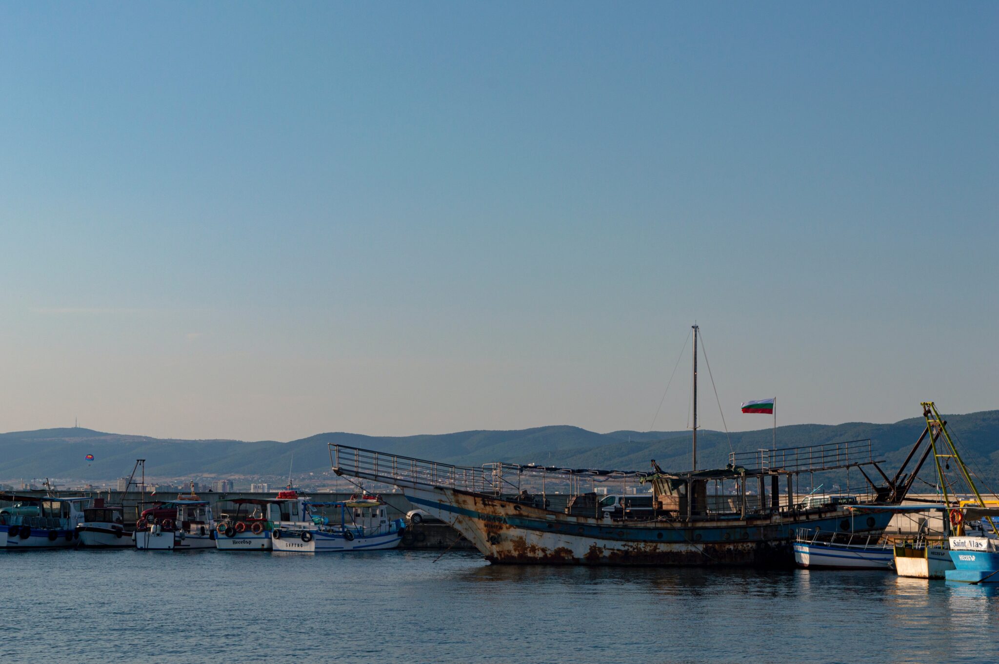
{"type": "Polygon", "coordinates": [[[0,549],[69,548],[77,545],[77,524],[91,498],[0,493],[0,549]]]}

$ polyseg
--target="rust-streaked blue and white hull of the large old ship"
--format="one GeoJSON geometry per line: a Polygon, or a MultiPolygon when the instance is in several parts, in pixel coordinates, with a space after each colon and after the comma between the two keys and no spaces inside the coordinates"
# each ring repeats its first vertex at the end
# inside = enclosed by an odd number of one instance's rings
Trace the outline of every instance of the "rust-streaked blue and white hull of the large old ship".
{"type": "Polygon", "coordinates": [[[622,522],[573,516],[482,493],[404,487],[407,498],[450,523],[496,563],[566,565],[791,566],[795,528],[879,535],[890,514],[815,514],[622,522]]]}

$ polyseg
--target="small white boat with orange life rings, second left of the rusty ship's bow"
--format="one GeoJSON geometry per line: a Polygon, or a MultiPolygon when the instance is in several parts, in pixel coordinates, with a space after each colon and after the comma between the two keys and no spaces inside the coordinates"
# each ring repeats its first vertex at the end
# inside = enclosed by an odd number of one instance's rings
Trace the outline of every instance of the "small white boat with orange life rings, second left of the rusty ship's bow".
{"type": "Polygon", "coordinates": [[[236,512],[224,515],[216,528],[220,551],[270,551],[275,528],[310,520],[308,498],[294,489],[279,491],[276,498],[240,498],[232,503],[236,512]]]}

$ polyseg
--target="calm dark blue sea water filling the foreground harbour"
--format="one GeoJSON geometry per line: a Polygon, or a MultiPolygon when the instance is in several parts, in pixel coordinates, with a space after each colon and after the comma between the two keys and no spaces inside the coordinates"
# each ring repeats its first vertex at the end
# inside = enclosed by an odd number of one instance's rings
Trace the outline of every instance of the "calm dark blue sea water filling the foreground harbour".
{"type": "Polygon", "coordinates": [[[999,661],[995,588],[437,557],[2,553],[0,661],[999,661]]]}

